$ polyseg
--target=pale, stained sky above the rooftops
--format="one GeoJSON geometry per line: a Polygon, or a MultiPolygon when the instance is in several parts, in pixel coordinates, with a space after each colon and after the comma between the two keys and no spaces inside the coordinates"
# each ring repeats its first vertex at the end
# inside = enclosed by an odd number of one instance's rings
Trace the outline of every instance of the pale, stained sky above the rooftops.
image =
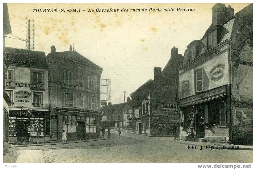
{"type": "MultiPolygon", "coordinates": [[[[235,14],[249,4],[225,5],[231,5],[235,14]]],[[[36,51],[47,56],[52,45],[56,52],[68,51],[72,45],[76,52],[103,68],[101,78],[111,79],[111,102],[116,104],[124,102],[124,91],[128,97],[146,81],[153,80],[153,68],[165,67],[172,47],[184,55],[190,42],[202,38],[212,23],[212,6],[214,3],[9,3],[8,10],[12,35],[19,38],[26,39],[27,19],[34,19],[36,51]],[[57,8],[57,13],[33,12],[44,8],[57,8]],[[80,12],[59,12],[73,8],[80,12]],[[97,12],[97,8],[119,11],[97,12]],[[168,11],[164,11],[166,8],[168,11]],[[94,12],[88,12],[89,9],[94,12]]],[[[8,36],[15,38],[12,35],[8,36]]],[[[26,42],[6,38],[6,47],[26,49],[26,42]]]]}

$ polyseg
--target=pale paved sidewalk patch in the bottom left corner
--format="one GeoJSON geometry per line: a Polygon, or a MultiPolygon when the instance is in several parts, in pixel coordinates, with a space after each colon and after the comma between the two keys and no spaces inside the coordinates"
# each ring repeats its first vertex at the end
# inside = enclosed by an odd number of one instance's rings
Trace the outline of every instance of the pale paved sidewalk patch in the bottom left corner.
{"type": "Polygon", "coordinates": [[[16,163],[45,163],[42,150],[20,150],[16,163]]]}

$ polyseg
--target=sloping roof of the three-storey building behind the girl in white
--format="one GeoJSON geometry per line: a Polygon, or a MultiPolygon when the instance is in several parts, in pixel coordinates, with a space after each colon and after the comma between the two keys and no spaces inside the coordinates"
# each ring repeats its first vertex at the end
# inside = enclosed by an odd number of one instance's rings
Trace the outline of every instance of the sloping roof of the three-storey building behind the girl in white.
{"type": "Polygon", "coordinates": [[[72,60],[74,62],[79,62],[81,64],[84,64],[84,65],[87,65],[87,66],[89,65],[89,66],[92,66],[94,68],[102,70],[101,67],[94,64],[92,61],[90,61],[89,59],[82,56],[81,54],[79,54],[76,51],[54,52],[54,53],[49,53],[47,55],[47,57],[51,57],[51,56],[52,57],[61,57],[61,58],[67,59],[67,60],[72,60]]]}

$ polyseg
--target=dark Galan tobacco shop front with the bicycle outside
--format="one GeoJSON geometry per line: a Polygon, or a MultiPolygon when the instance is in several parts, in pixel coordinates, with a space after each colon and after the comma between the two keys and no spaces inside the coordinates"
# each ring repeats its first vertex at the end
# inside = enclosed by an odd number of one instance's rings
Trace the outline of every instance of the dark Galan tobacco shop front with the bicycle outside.
{"type": "Polygon", "coordinates": [[[32,137],[37,142],[50,140],[50,112],[9,110],[9,142],[32,137]]]}

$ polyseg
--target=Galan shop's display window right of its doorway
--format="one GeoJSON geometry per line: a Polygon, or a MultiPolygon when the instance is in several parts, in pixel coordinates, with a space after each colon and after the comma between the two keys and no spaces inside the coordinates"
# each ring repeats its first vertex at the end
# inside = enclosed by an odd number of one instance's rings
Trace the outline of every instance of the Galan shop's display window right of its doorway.
{"type": "Polygon", "coordinates": [[[44,135],[44,118],[30,118],[30,135],[43,136],[44,135]]]}

